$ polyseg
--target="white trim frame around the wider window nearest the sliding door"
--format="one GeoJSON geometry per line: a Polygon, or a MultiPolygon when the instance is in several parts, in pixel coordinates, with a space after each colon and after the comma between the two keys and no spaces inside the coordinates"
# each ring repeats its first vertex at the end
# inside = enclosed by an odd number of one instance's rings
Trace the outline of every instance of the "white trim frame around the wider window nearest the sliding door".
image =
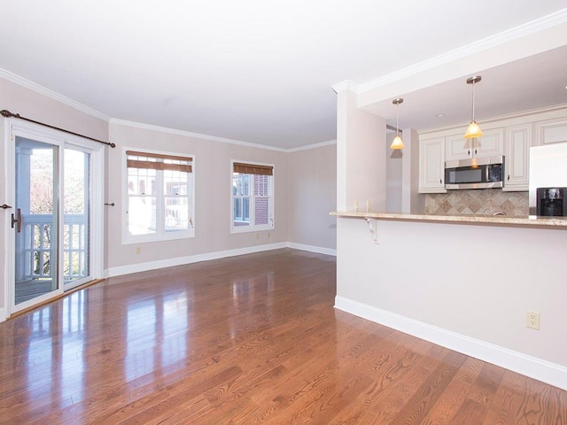
{"type": "Polygon", "coordinates": [[[172,152],[172,151],[156,151],[151,149],[142,149],[137,147],[123,147],[122,148],[122,211],[120,215],[121,228],[122,228],[122,244],[128,245],[133,243],[146,243],[146,242],[161,242],[161,241],[173,241],[176,239],[185,239],[188,237],[195,237],[195,170],[196,170],[197,160],[195,155],[187,152],[172,152]],[[148,154],[161,154],[161,155],[172,155],[177,157],[190,157],[192,158],[192,175],[191,175],[191,193],[190,193],[190,228],[188,230],[179,230],[171,233],[161,233],[152,235],[128,235],[128,155],[126,151],[138,151],[141,153],[148,154]]]}

